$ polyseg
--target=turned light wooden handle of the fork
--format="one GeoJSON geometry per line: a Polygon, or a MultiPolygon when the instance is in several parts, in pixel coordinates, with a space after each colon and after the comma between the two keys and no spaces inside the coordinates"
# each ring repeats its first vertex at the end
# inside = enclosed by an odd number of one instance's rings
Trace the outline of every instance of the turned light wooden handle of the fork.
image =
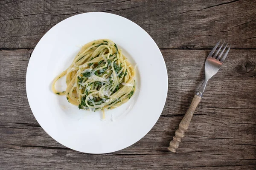
{"type": "Polygon", "coordinates": [[[175,136],[173,136],[172,141],[170,142],[170,146],[168,149],[172,152],[176,152],[176,149],[179,147],[179,143],[181,142],[181,138],[184,137],[185,130],[188,129],[189,123],[192,119],[192,116],[195,112],[195,108],[201,101],[202,97],[195,95],[191,105],[189,106],[188,111],[180,122],[179,128],[175,131],[175,136]]]}

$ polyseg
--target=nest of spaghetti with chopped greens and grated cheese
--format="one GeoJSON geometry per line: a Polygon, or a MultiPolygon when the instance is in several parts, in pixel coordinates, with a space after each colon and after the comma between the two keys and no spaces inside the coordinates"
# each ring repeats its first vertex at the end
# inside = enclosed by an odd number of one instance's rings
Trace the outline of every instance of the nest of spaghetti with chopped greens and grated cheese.
{"type": "Polygon", "coordinates": [[[110,110],[127,102],[136,90],[134,67],[122,50],[108,39],[95,40],[81,48],[69,68],[52,82],[52,91],[66,95],[79,109],[110,110]],[[66,75],[66,91],[55,83],[66,75]]]}

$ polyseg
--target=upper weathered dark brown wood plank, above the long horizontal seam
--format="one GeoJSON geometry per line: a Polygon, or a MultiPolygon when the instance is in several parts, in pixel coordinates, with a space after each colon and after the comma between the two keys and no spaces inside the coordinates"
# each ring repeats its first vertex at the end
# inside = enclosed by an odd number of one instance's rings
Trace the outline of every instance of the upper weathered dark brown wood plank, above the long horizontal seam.
{"type": "Polygon", "coordinates": [[[256,48],[253,0],[3,0],[0,48],[35,48],[55,24],[84,12],[105,11],[134,21],[160,48],[256,48]]]}

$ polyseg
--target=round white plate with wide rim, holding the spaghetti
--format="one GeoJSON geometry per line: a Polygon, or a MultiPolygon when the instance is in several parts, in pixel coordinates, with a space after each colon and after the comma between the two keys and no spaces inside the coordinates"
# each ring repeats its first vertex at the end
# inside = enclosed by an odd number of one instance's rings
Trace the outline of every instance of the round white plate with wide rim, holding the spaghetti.
{"type": "MultiPolygon", "coordinates": [[[[57,86],[64,90],[65,82],[57,86]]],[[[167,89],[166,65],[154,40],[132,21],[102,12],[79,14],[52,27],[36,45],[26,73],[35,119],[57,142],[84,153],[114,152],[143,138],[163,111],[167,89]],[[50,90],[81,45],[103,38],[113,40],[137,64],[138,89],[127,103],[107,111],[105,120],[101,111],[79,110],[50,90]]]]}

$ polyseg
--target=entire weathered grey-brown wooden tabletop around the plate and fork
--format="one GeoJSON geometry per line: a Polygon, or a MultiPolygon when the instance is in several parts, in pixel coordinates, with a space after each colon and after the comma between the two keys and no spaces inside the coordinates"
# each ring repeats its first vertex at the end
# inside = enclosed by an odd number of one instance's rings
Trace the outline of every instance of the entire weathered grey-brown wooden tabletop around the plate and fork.
{"type": "Polygon", "coordinates": [[[256,169],[255,0],[1,0],[0,80],[0,170],[256,169]],[[102,155],[71,150],[48,136],[25,88],[29,57],[41,37],[61,20],[92,11],[121,15],[145,29],[169,78],[166,105],[152,130],[102,155]],[[232,49],[171,153],[169,142],[204,78],[204,60],[220,39],[232,49]]]}

